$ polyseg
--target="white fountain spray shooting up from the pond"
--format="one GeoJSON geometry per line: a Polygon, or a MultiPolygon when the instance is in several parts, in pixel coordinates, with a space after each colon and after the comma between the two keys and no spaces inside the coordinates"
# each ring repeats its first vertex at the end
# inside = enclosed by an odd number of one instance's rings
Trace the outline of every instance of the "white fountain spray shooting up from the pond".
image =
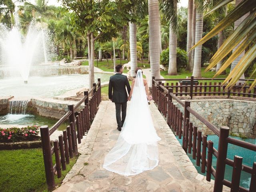
{"type": "Polygon", "coordinates": [[[50,43],[48,30],[34,20],[24,36],[17,18],[16,16],[16,24],[11,30],[0,24],[0,64],[12,76],[21,76],[26,84],[31,66],[47,63],[50,59],[48,52],[54,46],[50,43]]]}

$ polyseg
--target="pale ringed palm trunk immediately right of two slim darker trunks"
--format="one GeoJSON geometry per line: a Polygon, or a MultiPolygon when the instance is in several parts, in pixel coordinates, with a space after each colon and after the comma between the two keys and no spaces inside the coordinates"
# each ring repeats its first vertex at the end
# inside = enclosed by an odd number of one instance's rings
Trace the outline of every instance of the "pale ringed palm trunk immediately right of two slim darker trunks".
{"type": "MultiPolygon", "coordinates": [[[[196,10],[196,37],[195,42],[197,43],[203,36],[203,13],[196,10]]],[[[195,48],[194,68],[193,76],[201,78],[201,57],[202,57],[202,45],[195,48]]]]}

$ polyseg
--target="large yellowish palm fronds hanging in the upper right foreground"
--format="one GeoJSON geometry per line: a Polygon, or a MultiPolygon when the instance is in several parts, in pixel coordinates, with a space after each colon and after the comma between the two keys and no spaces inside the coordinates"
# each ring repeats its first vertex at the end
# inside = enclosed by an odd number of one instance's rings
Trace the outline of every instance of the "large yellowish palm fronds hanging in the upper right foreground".
{"type": "MultiPolygon", "coordinates": [[[[220,1],[212,10],[210,10],[206,15],[214,12],[218,8],[228,4],[232,0],[223,0],[220,1]]],[[[222,46],[217,50],[212,59],[210,60],[210,65],[206,70],[216,66],[216,64],[226,57],[236,46],[242,42],[234,52],[228,57],[228,59],[222,64],[222,67],[215,76],[219,75],[224,71],[237,57],[248,49],[244,56],[239,60],[236,66],[231,70],[230,74],[224,80],[223,84],[228,82],[228,87],[233,86],[238,82],[239,78],[244,74],[245,70],[250,66],[251,62],[256,58],[256,23],[255,23],[255,14],[256,14],[256,4],[253,0],[243,0],[238,4],[234,10],[232,10],[224,19],[222,19],[202,40],[200,40],[194,47],[202,45],[204,42],[218,34],[227,26],[230,26],[236,20],[242,18],[242,22],[234,30],[234,32],[228,36],[228,38],[223,42],[222,46]],[[249,15],[246,18],[242,18],[244,15],[249,15]]],[[[256,70],[252,73],[255,74],[256,70]]],[[[215,77],[214,76],[214,77],[215,77]]],[[[256,80],[252,83],[251,87],[256,85],[256,80]]]]}

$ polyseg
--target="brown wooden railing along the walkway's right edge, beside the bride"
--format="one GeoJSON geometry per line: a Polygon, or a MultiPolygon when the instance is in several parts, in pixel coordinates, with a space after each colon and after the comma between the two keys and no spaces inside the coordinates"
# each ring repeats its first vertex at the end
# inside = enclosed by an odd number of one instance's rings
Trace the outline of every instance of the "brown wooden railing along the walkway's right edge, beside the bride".
{"type": "MultiPolygon", "coordinates": [[[[166,80],[166,79],[165,79],[166,80]]],[[[256,145],[229,137],[229,128],[222,126],[216,128],[212,123],[198,114],[190,107],[190,101],[180,100],[172,88],[166,88],[161,82],[152,79],[152,96],[158,105],[158,110],[167,118],[167,124],[172,128],[179,139],[182,139],[182,148],[187,153],[192,153],[196,165],[201,166],[201,172],[206,172],[206,180],[215,178],[214,192],[221,192],[223,185],[231,188],[232,192],[256,192],[256,162],[252,167],[242,164],[242,157],[234,156],[234,160],[227,158],[228,144],[256,151],[256,145]],[[184,114],[173,103],[176,100],[184,108],[184,114]],[[210,130],[219,136],[218,150],[213,147],[213,142],[207,140],[207,135],[202,135],[196,126],[190,122],[190,115],[195,116],[210,130]],[[202,144],[202,145],[201,145],[202,144]],[[207,152],[208,149],[208,152],[207,152]],[[216,169],[212,166],[212,156],[217,158],[216,169]],[[233,167],[231,182],[224,179],[225,166],[233,167]],[[240,186],[241,171],[251,174],[250,188],[240,186]]]]}

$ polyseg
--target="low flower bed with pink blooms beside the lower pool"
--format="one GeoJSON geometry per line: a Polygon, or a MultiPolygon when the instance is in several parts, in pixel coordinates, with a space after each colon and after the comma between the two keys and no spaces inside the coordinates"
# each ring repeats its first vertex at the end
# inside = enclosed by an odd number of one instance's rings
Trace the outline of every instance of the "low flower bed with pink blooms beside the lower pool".
{"type": "Polygon", "coordinates": [[[19,142],[38,140],[38,126],[27,126],[25,128],[0,129],[0,142],[19,142]]]}

